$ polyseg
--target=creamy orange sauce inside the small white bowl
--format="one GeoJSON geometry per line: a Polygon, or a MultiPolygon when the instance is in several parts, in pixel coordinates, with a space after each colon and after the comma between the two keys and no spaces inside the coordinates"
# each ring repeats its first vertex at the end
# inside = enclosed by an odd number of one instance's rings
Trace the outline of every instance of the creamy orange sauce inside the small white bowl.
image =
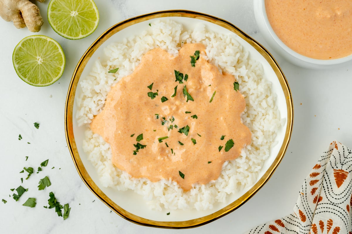
{"type": "Polygon", "coordinates": [[[265,0],[276,35],[292,50],[315,59],[352,54],[351,0],[265,0]]]}

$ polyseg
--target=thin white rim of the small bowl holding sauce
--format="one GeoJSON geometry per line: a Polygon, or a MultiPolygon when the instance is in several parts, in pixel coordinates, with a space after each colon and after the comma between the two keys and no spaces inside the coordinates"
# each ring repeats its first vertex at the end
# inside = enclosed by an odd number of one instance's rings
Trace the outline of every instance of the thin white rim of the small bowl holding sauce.
{"type": "MultiPolygon", "coordinates": [[[[268,19],[268,15],[266,14],[265,1],[266,0],[254,0],[253,2],[254,6],[259,4],[259,9],[257,7],[254,7],[254,9],[258,9],[260,11],[260,14],[262,16],[261,18],[264,20],[265,28],[268,30],[272,39],[281,47],[281,49],[287,52],[290,56],[296,59],[299,59],[303,62],[315,64],[315,65],[336,65],[336,64],[348,62],[352,59],[352,54],[342,58],[335,58],[335,59],[316,59],[316,58],[310,58],[310,57],[301,55],[300,53],[297,53],[296,51],[292,50],[285,43],[282,42],[282,40],[276,35],[275,31],[272,29],[268,19]]],[[[254,11],[254,13],[256,13],[256,11],[254,11]]]]}

